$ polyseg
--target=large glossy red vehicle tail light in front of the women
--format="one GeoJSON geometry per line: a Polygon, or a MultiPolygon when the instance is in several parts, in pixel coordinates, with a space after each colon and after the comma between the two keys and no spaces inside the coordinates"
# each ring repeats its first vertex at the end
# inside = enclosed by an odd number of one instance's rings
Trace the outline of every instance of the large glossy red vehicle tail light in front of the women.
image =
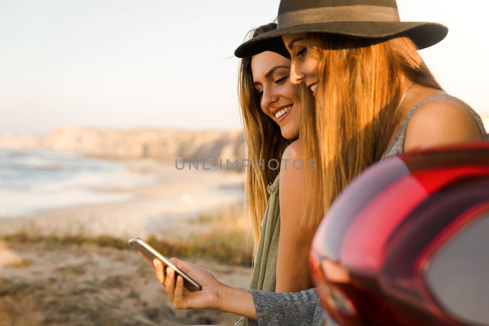
{"type": "Polygon", "coordinates": [[[352,182],[316,232],[310,261],[321,303],[343,326],[489,325],[485,228],[489,143],[382,162],[352,182]]]}

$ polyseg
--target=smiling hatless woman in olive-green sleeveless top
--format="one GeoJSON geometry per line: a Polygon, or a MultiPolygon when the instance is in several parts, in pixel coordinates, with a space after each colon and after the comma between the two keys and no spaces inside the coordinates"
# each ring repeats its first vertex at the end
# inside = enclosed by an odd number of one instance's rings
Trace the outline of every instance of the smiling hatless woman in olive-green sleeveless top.
{"type": "MultiPolygon", "coordinates": [[[[269,23],[250,34],[255,38],[276,28],[276,23],[269,23]]],[[[301,224],[300,215],[303,170],[312,165],[301,156],[298,137],[301,111],[313,106],[314,98],[305,85],[291,84],[289,75],[289,52],[281,38],[267,41],[262,51],[243,58],[238,74],[247,159],[262,162],[263,167],[252,165],[245,171],[246,207],[255,240],[249,289],[267,292],[313,286],[308,259],[316,226],[301,224]],[[295,268],[290,268],[290,258],[295,268]]],[[[168,286],[173,283],[165,284],[163,270],[157,275],[171,293],[168,286]]],[[[240,325],[248,321],[243,318],[240,325]]]]}

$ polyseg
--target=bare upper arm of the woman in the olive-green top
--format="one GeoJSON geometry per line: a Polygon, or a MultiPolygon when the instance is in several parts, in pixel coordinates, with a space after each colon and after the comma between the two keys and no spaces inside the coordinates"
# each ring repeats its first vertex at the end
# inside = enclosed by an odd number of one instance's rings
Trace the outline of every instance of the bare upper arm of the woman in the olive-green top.
{"type": "Polygon", "coordinates": [[[302,223],[304,209],[304,171],[307,159],[302,157],[299,140],[287,147],[283,159],[289,159],[280,166],[280,237],[277,252],[275,292],[299,292],[313,287],[309,270],[309,250],[315,228],[302,223]],[[293,161],[301,159],[302,163],[293,161]]]}

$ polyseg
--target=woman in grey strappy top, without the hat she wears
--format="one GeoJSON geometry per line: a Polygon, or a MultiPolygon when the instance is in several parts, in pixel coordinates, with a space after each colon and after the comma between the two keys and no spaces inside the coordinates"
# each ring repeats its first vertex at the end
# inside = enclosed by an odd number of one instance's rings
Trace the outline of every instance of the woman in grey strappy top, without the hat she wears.
{"type": "Polygon", "coordinates": [[[311,205],[316,218],[378,160],[486,136],[478,114],[435,80],[415,37],[380,41],[294,33],[282,38],[291,54],[291,82],[307,85],[316,98],[318,133],[305,136],[323,149],[318,155],[323,175],[310,175],[307,181],[317,188],[306,191],[306,197],[323,195],[311,205]]]}

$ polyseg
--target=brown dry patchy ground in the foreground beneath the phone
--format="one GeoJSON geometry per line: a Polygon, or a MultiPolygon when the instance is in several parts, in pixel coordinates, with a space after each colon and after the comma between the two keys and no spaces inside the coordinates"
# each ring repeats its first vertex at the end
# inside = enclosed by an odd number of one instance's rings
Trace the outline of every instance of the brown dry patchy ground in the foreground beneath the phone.
{"type": "MultiPolygon", "coordinates": [[[[223,283],[247,287],[249,268],[192,262],[223,283]]],[[[0,242],[0,326],[233,325],[237,319],[174,309],[133,250],[0,242]]]]}

